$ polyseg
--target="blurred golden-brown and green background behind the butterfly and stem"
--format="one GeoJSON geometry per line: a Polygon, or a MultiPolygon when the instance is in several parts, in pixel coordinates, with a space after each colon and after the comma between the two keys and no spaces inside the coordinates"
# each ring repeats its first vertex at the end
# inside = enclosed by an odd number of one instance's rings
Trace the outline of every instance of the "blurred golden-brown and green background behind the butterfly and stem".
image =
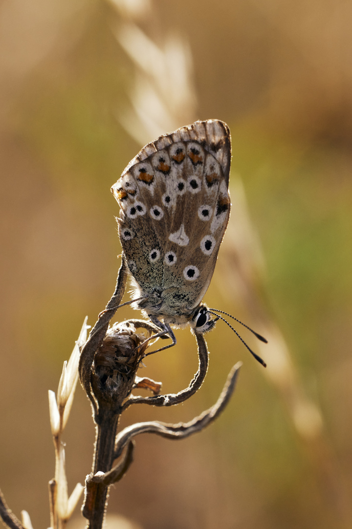
{"type": "MultiPolygon", "coordinates": [[[[352,526],[351,23],[343,0],[0,4],[0,487],[34,528],[50,524],[47,390],[115,288],[110,187],[143,144],[208,118],[231,129],[233,207],[205,302],[268,338],[238,329],[268,368],[218,322],[197,395],[122,426],[189,421],[243,360],[230,405],[187,440],[138,437],[109,512],[143,529],[352,526]]],[[[167,393],[197,369],[194,337],[176,337],[141,373],[167,393]]],[[[81,387],[64,439],[71,491],[94,441],[81,387]]]]}

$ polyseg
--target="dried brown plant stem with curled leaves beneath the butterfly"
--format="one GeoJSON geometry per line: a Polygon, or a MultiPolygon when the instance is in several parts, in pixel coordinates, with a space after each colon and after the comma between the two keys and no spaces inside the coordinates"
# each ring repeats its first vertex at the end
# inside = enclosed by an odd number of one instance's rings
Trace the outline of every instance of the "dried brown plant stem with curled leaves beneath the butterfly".
{"type": "Polygon", "coordinates": [[[96,443],[92,472],[85,480],[83,515],[89,529],[100,529],[107,510],[109,486],[125,475],[133,459],[134,437],[141,433],[155,433],[171,439],[183,439],[200,432],[222,412],[233,393],[239,370],[231,371],[217,403],[189,423],[166,424],[158,421],[137,423],[118,433],[120,415],[131,404],[173,406],[191,397],[201,387],[208,367],[208,351],[201,334],[195,333],[199,367],[189,386],[177,394],[159,395],[161,384],[136,376],[146,355],[151,333],[158,329],[143,320],[129,320],[108,328],[109,319],[116,312],[126,286],[126,268],[122,263],[118,285],[105,311],[94,325],[87,343],[82,348],[80,378],[90,399],[96,423],[96,443]],[[137,334],[136,327],[148,333],[137,334]],[[132,390],[148,389],[150,397],[132,395],[132,390]],[[114,466],[114,462],[118,459],[114,466]]]}

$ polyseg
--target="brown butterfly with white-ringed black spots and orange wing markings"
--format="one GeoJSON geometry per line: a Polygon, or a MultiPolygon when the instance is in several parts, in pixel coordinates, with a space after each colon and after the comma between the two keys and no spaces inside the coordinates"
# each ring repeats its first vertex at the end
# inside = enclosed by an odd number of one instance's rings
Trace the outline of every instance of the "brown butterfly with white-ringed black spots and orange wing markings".
{"type": "Polygon", "coordinates": [[[205,333],[221,318],[202,299],[229,222],[230,164],[226,123],[196,121],[148,143],[111,188],[132,306],[172,339],[158,351],[176,344],[170,325],[205,333]]]}

